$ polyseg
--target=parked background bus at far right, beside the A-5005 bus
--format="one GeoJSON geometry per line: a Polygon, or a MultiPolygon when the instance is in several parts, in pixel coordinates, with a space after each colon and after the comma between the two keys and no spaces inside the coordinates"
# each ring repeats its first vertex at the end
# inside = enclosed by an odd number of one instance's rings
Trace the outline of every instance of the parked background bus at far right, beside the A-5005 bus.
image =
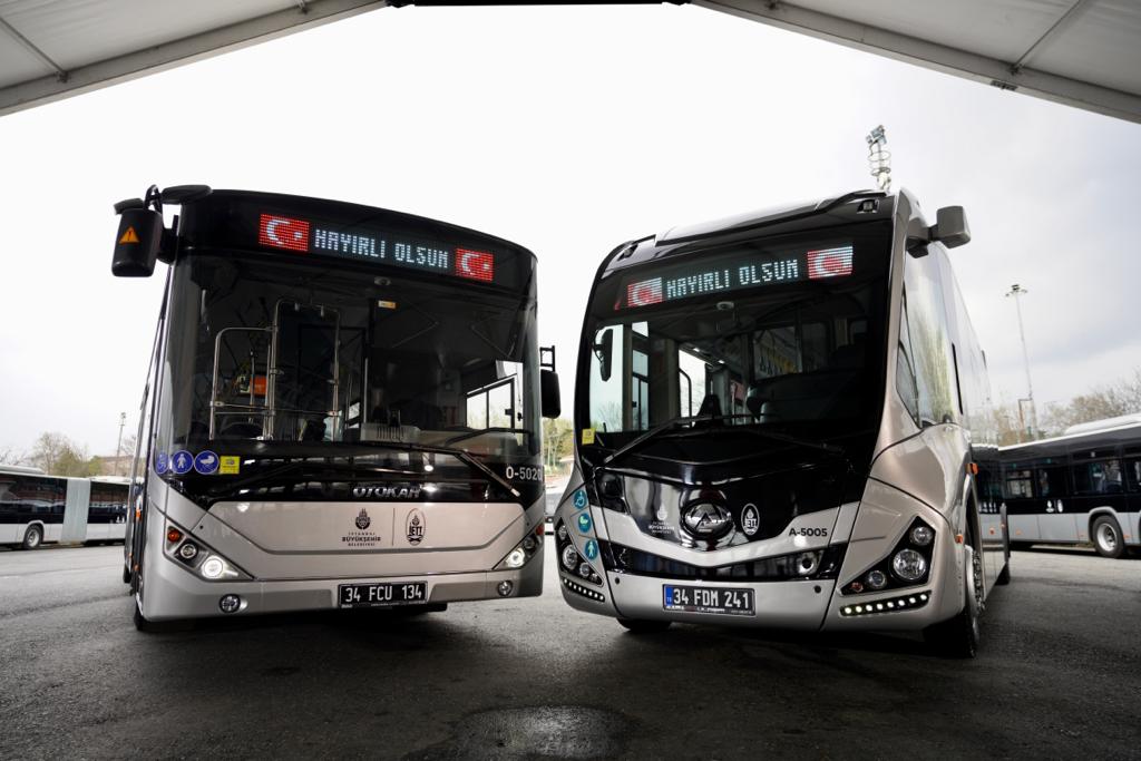
{"type": "Polygon", "coordinates": [[[1003,447],[1011,542],[1078,544],[1119,558],[1141,545],[1141,415],[1003,447]]]}

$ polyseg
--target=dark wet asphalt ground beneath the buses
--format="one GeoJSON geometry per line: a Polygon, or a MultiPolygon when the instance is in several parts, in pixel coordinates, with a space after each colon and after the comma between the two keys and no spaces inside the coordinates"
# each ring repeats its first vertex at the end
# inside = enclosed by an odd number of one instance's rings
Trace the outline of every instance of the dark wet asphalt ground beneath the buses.
{"type": "Polygon", "coordinates": [[[1013,556],[973,661],[543,597],[143,634],[120,547],[0,551],[0,759],[1141,758],[1141,560],[1013,556]]]}

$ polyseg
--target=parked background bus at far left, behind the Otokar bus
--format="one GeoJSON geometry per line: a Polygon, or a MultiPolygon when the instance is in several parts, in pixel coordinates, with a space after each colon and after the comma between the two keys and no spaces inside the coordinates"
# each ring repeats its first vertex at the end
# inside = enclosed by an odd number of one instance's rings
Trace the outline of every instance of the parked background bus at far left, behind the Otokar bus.
{"type": "Polygon", "coordinates": [[[34,550],[44,542],[121,542],[129,484],[0,467],[0,544],[34,550]]]}

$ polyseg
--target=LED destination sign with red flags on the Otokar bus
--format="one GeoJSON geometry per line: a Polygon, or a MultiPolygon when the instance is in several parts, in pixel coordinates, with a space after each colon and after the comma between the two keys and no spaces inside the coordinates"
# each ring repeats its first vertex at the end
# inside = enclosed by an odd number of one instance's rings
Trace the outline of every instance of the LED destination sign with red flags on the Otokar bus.
{"type": "Polygon", "coordinates": [[[495,280],[495,256],[487,251],[450,248],[396,236],[343,233],[275,214],[261,214],[258,243],[299,253],[332,253],[350,259],[458,275],[484,283],[495,280]]]}

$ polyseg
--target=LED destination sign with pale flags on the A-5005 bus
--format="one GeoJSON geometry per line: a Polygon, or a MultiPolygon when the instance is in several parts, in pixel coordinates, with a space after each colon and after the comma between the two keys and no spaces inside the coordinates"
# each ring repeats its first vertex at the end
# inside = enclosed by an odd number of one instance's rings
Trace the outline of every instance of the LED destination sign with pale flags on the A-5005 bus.
{"type": "Polygon", "coordinates": [[[620,303],[620,308],[647,307],[743,288],[851,274],[851,244],[786,256],[734,254],[722,257],[719,261],[704,262],[704,266],[673,269],[667,275],[628,283],[625,301],[620,303]]]}

